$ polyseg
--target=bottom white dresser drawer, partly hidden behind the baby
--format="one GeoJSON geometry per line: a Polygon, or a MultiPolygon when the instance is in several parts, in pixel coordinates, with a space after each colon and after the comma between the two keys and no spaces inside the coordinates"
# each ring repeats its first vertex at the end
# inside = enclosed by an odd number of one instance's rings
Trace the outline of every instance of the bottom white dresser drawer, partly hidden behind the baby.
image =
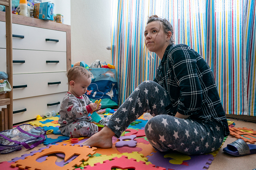
{"type": "Polygon", "coordinates": [[[52,110],[59,112],[60,104],[66,93],[67,92],[55,93],[50,95],[13,100],[13,123],[19,123],[31,119],[35,120],[37,115],[42,115],[52,110]],[[58,102],[60,102],[60,104],[47,106],[47,104],[49,105],[58,102]]]}

